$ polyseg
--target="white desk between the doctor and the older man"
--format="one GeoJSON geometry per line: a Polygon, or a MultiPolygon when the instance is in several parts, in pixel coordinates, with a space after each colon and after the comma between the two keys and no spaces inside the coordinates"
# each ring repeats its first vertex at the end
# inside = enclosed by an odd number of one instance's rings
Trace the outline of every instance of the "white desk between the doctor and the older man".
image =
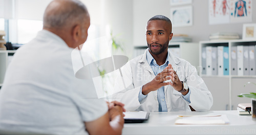
{"type": "Polygon", "coordinates": [[[256,121],[237,110],[152,112],[144,123],[125,123],[122,134],[256,134],[256,121]],[[176,125],[178,115],[227,115],[225,125],[176,125]]]}

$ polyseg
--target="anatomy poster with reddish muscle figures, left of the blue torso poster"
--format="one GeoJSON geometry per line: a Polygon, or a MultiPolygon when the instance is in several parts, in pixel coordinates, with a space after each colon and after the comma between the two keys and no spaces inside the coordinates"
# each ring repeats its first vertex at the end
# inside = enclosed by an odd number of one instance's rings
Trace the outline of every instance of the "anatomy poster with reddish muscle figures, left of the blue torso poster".
{"type": "Polygon", "coordinates": [[[209,24],[228,24],[230,22],[230,0],[209,0],[209,24]]]}

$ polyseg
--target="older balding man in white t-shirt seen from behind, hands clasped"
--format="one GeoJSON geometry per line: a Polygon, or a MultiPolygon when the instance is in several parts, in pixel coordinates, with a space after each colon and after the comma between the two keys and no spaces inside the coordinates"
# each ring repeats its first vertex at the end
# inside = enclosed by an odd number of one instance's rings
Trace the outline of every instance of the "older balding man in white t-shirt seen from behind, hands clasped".
{"type": "Polygon", "coordinates": [[[87,40],[87,8],[78,0],[54,0],[43,22],[8,66],[0,132],[121,134],[123,104],[98,99],[92,80],[74,75],[71,52],[87,40]]]}

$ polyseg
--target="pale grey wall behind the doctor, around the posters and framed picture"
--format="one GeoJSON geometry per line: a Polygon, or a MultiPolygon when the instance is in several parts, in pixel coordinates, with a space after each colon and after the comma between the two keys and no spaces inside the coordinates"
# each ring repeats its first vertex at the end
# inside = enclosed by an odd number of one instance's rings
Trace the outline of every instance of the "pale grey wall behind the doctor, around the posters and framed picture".
{"type": "MultiPolygon", "coordinates": [[[[242,38],[243,23],[232,23],[222,25],[209,25],[208,22],[208,0],[193,0],[193,26],[173,28],[175,34],[187,34],[193,38],[193,42],[208,40],[210,33],[236,32],[242,38]]],[[[169,0],[134,0],[133,3],[133,25],[134,46],[146,46],[145,27],[148,19],[157,14],[170,17],[169,0]]],[[[252,1],[252,22],[256,23],[256,1],[252,1]]],[[[172,18],[170,18],[172,20],[172,18]]]]}

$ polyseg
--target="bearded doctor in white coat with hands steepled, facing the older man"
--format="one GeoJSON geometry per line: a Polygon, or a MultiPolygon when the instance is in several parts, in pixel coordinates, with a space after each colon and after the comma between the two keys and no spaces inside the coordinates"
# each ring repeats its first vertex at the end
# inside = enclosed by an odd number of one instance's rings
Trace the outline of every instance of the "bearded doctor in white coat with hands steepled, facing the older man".
{"type": "Polygon", "coordinates": [[[121,78],[115,84],[119,92],[113,98],[124,103],[126,110],[207,111],[212,106],[212,95],[196,68],[168,51],[172,37],[169,18],[156,15],[147,21],[148,49],[123,66],[127,87],[123,88],[121,78]]]}

